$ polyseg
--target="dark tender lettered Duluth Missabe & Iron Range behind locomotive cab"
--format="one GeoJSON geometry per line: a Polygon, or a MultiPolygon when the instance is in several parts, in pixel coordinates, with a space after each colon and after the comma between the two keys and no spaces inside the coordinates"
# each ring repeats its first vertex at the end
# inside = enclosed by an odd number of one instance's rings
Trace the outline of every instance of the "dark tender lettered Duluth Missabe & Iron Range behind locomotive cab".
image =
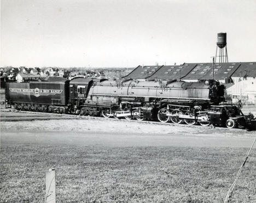
{"type": "Polygon", "coordinates": [[[8,82],[5,97],[15,109],[62,113],[68,105],[68,83],[51,77],[47,81],[8,82]]]}

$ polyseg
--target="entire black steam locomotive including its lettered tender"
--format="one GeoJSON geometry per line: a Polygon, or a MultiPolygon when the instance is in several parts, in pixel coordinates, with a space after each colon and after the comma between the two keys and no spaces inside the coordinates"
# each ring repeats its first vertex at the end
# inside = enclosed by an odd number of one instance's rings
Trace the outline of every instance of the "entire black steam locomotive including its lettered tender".
{"type": "Polygon", "coordinates": [[[76,78],[7,83],[5,98],[17,110],[247,127],[252,115],[224,103],[218,81],[142,81],[76,78]]]}

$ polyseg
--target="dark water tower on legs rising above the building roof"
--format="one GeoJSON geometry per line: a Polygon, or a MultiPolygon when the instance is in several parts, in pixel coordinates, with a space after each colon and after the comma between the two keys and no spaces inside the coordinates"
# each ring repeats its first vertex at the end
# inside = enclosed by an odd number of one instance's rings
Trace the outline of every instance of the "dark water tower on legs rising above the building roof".
{"type": "Polygon", "coordinates": [[[228,60],[228,51],[226,50],[226,33],[217,34],[217,46],[216,46],[216,55],[215,62],[226,63],[228,60]],[[218,61],[218,59],[219,61],[218,61]]]}

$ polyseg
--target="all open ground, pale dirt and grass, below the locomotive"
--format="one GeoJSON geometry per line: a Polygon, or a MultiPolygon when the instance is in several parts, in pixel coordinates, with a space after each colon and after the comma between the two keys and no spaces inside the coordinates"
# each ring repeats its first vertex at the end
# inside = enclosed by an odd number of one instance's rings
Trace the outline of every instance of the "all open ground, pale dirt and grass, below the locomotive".
{"type": "MultiPolygon", "coordinates": [[[[45,171],[53,167],[58,202],[222,202],[255,137],[240,129],[15,115],[19,122],[1,121],[0,202],[43,202],[45,171]]],[[[256,146],[231,202],[256,201],[255,171],[256,146]]]]}

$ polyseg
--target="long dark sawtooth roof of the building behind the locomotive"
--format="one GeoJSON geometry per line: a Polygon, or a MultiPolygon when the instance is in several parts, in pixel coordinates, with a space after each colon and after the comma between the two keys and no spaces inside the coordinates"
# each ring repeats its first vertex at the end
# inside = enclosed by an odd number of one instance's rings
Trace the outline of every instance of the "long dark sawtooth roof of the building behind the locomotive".
{"type": "MultiPolygon", "coordinates": [[[[256,76],[256,62],[216,63],[214,78],[223,81],[231,77],[256,76]]],[[[141,80],[211,80],[213,79],[212,63],[184,63],[182,65],[139,65],[124,79],[141,80]]]]}

